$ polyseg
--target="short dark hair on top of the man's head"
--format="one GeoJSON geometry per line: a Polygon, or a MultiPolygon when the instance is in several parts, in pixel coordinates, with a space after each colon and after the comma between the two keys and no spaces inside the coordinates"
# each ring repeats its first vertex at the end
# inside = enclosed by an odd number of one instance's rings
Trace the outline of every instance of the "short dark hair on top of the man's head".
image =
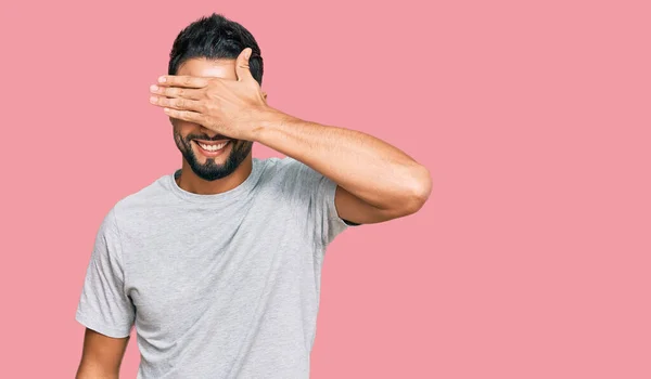
{"type": "Polygon", "coordinates": [[[253,50],[248,67],[261,86],[263,56],[253,35],[242,25],[221,14],[213,13],[193,22],[179,32],[169,53],[167,74],[176,75],[181,64],[195,57],[234,60],[245,48],[253,50]]]}

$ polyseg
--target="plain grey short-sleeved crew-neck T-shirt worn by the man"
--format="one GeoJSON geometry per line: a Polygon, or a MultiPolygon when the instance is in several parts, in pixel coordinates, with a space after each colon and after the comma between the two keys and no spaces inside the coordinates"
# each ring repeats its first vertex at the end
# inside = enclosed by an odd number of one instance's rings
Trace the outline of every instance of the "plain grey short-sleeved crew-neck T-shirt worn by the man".
{"type": "Polygon", "coordinates": [[[116,338],[135,325],[141,379],[308,378],[323,254],[347,227],[336,184],[292,158],[254,158],[217,195],[178,173],[108,211],[76,319],[116,338]]]}

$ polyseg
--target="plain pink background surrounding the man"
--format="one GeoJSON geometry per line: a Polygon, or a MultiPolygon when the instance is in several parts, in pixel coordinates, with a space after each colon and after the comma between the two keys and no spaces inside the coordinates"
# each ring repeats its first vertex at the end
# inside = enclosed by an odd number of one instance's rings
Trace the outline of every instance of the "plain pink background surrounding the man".
{"type": "Polygon", "coordinates": [[[312,378],[650,378],[648,4],[2,5],[0,376],[73,377],[101,219],[180,165],[149,86],[216,11],[256,36],[272,106],[434,178],[420,213],[332,245],[312,378]]]}

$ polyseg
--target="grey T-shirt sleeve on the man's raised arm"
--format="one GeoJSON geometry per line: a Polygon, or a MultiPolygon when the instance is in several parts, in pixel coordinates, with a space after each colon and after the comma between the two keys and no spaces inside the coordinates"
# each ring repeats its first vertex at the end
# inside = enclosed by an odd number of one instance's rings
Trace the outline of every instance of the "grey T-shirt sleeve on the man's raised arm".
{"type": "Polygon", "coordinates": [[[327,246],[354,224],[346,223],[337,213],[334,196],[337,184],[309,166],[284,158],[285,180],[292,181],[292,196],[303,212],[308,233],[320,246],[327,246]]]}

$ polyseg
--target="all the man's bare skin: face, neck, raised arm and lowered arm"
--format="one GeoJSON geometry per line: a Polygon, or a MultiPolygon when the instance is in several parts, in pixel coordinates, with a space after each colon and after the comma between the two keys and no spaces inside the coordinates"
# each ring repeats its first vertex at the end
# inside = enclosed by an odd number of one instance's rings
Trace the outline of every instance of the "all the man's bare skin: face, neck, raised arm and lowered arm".
{"type": "MultiPolygon", "coordinates": [[[[235,152],[246,151],[254,142],[311,167],[337,183],[335,206],[340,217],[349,222],[385,222],[421,209],[432,191],[426,168],[372,135],[302,120],[270,107],[248,70],[250,53],[251,49],[244,49],[237,60],[189,60],[176,76],[163,76],[151,87],[150,102],[170,117],[175,141],[184,156],[177,181],[181,188],[219,194],[251,174],[247,151],[230,174],[218,179],[197,175],[187,157],[190,147],[195,165],[208,165],[209,158],[189,141],[201,135],[232,140],[224,154],[212,158],[215,170],[225,169],[235,152]]],[[[77,379],[117,378],[127,341],[87,330],[77,379]]]]}

